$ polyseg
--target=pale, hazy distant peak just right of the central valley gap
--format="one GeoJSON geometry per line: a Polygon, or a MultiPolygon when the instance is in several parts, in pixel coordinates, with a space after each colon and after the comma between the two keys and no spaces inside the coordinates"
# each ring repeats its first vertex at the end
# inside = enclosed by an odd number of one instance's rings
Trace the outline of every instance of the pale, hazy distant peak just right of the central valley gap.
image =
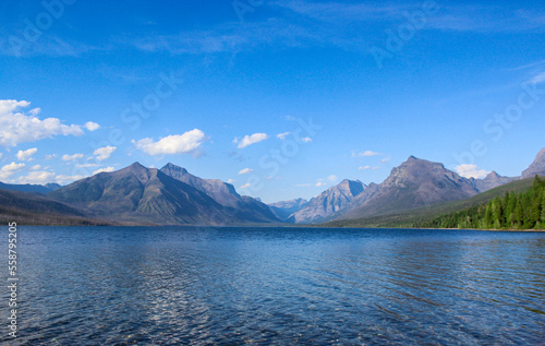
{"type": "Polygon", "coordinates": [[[291,214],[288,220],[296,224],[323,222],[343,210],[366,188],[360,180],[344,179],[339,184],[313,198],[304,207],[291,214]]]}

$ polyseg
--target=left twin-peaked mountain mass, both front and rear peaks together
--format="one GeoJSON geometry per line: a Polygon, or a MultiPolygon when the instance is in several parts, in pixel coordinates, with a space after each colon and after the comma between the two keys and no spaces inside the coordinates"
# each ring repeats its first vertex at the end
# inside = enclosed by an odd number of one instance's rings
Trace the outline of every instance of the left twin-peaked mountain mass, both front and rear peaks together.
{"type": "Polygon", "coordinates": [[[267,206],[240,196],[230,184],[197,178],[172,164],[159,170],[134,163],[75,181],[49,196],[89,216],[118,222],[166,225],[279,222],[267,206]],[[238,202],[231,203],[232,200],[238,202]]]}

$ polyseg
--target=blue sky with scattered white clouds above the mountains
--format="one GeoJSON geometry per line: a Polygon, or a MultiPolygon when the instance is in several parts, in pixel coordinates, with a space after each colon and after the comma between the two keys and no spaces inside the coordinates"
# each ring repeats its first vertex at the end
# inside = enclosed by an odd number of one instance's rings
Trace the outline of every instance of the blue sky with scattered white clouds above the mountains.
{"type": "Polygon", "coordinates": [[[0,4],[0,181],[171,162],[275,202],[545,146],[542,2],[0,4]]]}

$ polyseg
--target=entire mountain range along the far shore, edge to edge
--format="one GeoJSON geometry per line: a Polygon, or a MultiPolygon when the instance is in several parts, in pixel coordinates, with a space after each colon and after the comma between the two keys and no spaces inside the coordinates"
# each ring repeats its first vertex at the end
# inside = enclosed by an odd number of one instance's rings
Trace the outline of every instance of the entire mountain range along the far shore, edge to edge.
{"type": "Polygon", "coordinates": [[[70,225],[316,224],[433,210],[534,175],[545,176],[545,148],[521,177],[492,171],[483,179],[410,156],[379,184],[344,179],[310,201],[266,205],[240,195],[230,183],[196,177],[170,163],[160,169],[134,163],[65,187],[0,183],[0,218],[70,225]]]}

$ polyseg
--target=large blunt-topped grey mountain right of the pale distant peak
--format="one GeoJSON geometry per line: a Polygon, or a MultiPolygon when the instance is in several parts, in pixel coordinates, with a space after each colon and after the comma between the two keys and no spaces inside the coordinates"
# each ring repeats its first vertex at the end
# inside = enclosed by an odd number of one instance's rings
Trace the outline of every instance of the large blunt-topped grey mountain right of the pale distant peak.
{"type": "Polygon", "coordinates": [[[356,198],[337,219],[360,218],[463,200],[479,193],[473,183],[443,164],[414,156],[391,170],[373,193],[356,198]]]}

